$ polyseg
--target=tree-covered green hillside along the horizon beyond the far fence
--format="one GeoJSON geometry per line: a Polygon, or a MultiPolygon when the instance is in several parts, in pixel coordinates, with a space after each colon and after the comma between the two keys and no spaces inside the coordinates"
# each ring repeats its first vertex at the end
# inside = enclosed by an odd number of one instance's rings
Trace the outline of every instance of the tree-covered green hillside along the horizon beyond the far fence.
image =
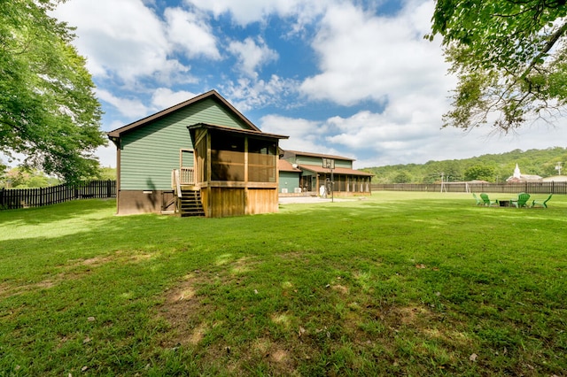
{"type": "MultiPolygon", "coordinates": [[[[567,149],[512,150],[502,154],[445,161],[428,161],[425,164],[386,165],[361,169],[373,173],[373,183],[433,183],[444,181],[489,182],[506,181],[519,165],[524,174],[541,177],[556,175],[558,162],[567,161],[567,149]]],[[[567,171],[564,171],[567,173],[567,171]]]]}

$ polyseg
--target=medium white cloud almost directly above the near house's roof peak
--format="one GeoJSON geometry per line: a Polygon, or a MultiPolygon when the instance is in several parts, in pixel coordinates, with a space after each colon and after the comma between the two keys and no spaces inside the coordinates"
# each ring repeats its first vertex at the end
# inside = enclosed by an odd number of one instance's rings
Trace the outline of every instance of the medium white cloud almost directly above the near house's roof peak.
{"type": "Polygon", "coordinates": [[[216,46],[216,37],[203,19],[181,8],[167,8],[164,15],[167,20],[169,40],[180,46],[187,58],[198,56],[214,60],[221,58],[216,46]]]}

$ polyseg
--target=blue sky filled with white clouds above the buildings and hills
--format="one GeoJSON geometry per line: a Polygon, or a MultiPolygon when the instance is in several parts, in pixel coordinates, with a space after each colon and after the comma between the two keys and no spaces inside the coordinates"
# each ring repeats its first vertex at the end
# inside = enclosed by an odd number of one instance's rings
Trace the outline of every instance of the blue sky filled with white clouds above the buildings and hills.
{"type": "MultiPolygon", "coordinates": [[[[356,168],[565,147],[567,121],[515,135],[441,129],[454,77],[428,42],[433,2],[68,0],[110,131],[210,89],[284,149],[356,168]]],[[[115,166],[111,143],[97,151],[115,166]]]]}

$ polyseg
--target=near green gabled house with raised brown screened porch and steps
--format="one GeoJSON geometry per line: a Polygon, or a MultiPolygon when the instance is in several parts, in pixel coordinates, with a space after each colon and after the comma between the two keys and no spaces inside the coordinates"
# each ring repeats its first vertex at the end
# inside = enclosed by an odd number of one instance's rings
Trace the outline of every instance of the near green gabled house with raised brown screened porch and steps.
{"type": "Polygon", "coordinates": [[[212,90],[108,134],[117,212],[237,216],[277,211],[278,142],[212,90]]]}

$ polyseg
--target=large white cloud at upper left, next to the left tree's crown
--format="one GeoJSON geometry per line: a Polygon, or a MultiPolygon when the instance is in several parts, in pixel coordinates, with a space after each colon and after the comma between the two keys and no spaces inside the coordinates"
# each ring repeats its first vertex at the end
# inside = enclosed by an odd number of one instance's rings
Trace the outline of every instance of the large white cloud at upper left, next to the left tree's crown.
{"type": "Polygon", "coordinates": [[[141,76],[167,81],[171,74],[189,71],[168,57],[166,26],[141,0],[74,0],[60,4],[55,16],[80,30],[74,43],[88,57],[95,78],[118,77],[131,84],[141,76]]]}

